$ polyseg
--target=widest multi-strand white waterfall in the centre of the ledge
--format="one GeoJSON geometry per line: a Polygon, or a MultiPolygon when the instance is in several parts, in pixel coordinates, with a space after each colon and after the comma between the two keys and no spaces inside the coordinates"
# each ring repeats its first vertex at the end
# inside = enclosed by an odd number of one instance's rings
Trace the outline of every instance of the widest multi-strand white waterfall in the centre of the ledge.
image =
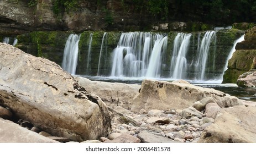
{"type": "Polygon", "coordinates": [[[122,33],[112,53],[111,76],[142,77],[148,74],[149,57],[154,51],[151,46],[161,37],[163,35],[151,32],[122,33]]]}

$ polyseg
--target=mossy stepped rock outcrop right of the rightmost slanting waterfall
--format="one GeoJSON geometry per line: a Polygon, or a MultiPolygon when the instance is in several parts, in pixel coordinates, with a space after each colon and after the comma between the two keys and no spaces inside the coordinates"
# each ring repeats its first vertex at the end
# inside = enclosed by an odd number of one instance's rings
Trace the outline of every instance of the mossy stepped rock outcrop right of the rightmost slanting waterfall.
{"type": "Polygon", "coordinates": [[[237,43],[236,52],[228,61],[228,69],[224,73],[223,83],[237,83],[238,76],[255,69],[256,58],[256,26],[245,31],[244,41],[237,43]]]}

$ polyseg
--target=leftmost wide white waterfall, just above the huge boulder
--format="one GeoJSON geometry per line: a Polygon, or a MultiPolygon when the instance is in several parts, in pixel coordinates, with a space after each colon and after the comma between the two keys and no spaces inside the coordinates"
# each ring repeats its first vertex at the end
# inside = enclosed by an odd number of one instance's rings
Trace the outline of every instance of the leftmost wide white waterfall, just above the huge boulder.
{"type": "Polygon", "coordinates": [[[76,73],[79,40],[80,35],[70,34],[66,41],[64,56],[62,59],[62,68],[70,74],[76,73]]]}

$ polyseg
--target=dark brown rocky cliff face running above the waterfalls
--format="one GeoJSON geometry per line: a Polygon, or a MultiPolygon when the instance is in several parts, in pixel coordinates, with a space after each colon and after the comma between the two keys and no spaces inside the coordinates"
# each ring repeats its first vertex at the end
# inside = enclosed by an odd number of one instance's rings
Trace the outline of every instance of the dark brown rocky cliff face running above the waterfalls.
{"type": "MultiPolygon", "coordinates": [[[[234,22],[220,15],[216,21],[212,19],[213,17],[209,18],[210,10],[205,11],[203,7],[191,8],[191,2],[175,0],[168,3],[165,1],[159,6],[150,5],[148,1],[135,0],[77,1],[75,8],[70,10],[65,8],[58,13],[54,2],[53,0],[1,1],[0,34],[12,36],[34,30],[195,31],[212,29],[212,25],[231,25],[234,22]],[[161,11],[157,12],[157,9],[161,11]]],[[[201,2],[195,3],[199,5],[201,2]]]]}

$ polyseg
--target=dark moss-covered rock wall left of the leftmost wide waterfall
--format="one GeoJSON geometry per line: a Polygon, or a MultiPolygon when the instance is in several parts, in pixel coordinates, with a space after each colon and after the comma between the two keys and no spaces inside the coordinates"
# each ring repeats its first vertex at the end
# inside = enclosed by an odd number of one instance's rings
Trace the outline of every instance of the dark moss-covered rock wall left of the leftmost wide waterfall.
{"type": "Polygon", "coordinates": [[[18,35],[17,47],[36,57],[47,58],[61,65],[67,37],[71,32],[33,31],[18,35]]]}

